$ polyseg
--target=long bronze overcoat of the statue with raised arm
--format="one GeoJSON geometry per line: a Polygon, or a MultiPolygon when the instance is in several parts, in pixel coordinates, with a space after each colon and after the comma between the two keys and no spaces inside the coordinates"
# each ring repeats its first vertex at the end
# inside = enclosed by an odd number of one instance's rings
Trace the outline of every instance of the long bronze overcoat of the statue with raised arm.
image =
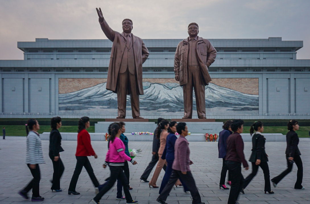
{"type": "MultiPolygon", "coordinates": [[[[123,33],[118,33],[112,30],[105,19],[101,23],[99,20],[100,26],[107,38],[113,42],[112,51],[110,56],[110,63],[108,69],[108,78],[106,89],[117,93],[117,76],[119,73],[120,65],[122,62],[122,57],[126,47],[126,37],[123,33]]],[[[148,58],[148,49],[144,45],[144,42],[141,38],[132,34],[133,40],[133,49],[135,55],[135,68],[137,73],[137,81],[139,87],[139,94],[143,95],[143,85],[142,85],[142,64],[148,58]]],[[[129,93],[127,93],[129,94],[129,93]]]]}

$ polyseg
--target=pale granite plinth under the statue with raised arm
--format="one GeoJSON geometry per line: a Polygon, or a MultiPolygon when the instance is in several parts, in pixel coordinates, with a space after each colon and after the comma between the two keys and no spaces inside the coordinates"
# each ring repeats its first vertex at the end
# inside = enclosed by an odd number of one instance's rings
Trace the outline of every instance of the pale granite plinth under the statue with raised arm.
{"type": "MultiPolygon", "coordinates": [[[[148,120],[148,119],[146,119],[148,120]]],[[[111,122],[98,122],[95,123],[95,132],[96,133],[106,133],[108,132],[108,127],[111,123],[118,122],[118,121],[111,121],[111,122]]],[[[157,127],[157,124],[154,122],[125,122],[126,132],[154,132],[157,127]]]]}

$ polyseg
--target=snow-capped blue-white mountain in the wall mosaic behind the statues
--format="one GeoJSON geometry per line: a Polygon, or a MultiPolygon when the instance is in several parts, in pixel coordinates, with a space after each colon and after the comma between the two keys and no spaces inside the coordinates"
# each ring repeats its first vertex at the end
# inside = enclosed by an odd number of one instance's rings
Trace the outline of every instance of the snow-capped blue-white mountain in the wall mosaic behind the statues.
{"type": "MultiPolygon", "coordinates": [[[[105,89],[106,82],[59,94],[60,114],[117,115],[117,94],[105,89]]],[[[177,83],[143,82],[144,95],[140,95],[141,115],[184,114],[183,89],[177,83]]],[[[210,83],[206,89],[206,115],[258,115],[259,96],[210,83]]],[[[127,115],[131,115],[127,96],[127,115]]],[[[193,94],[193,115],[197,115],[193,94]]]]}

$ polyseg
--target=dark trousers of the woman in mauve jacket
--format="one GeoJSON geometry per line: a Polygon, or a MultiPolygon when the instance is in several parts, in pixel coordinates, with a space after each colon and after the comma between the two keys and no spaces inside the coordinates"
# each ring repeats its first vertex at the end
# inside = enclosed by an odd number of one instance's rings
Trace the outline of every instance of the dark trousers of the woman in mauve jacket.
{"type": "Polygon", "coordinates": [[[191,195],[193,197],[193,204],[201,203],[201,197],[199,195],[198,189],[195,184],[195,180],[193,178],[193,175],[190,171],[187,171],[186,174],[182,174],[181,171],[172,170],[171,176],[169,178],[168,183],[166,184],[165,188],[162,190],[162,193],[158,196],[158,198],[166,201],[168,194],[170,193],[171,189],[173,188],[175,182],[178,179],[182,179],[184,184],[187,186],[189,191],[191,192],[191,195]]]}

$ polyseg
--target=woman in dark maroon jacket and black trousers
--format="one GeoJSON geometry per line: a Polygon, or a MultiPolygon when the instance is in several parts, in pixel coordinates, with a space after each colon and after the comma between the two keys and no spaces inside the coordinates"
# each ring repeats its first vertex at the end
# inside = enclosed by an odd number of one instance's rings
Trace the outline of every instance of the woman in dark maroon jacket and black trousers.
{"type": "Polygon", "coordinates": [[[233,133],[227,139],[226,166],[231,176],[231,188],[228,197],[228,204],[236,204],[239,192],[242,190],[244,178],[241,174],[241,163],[248,170],[249,165],[244,158],[244,143],[241,137],[243,132],[243,120],[235,119],[230,124],[233,133]]]}

